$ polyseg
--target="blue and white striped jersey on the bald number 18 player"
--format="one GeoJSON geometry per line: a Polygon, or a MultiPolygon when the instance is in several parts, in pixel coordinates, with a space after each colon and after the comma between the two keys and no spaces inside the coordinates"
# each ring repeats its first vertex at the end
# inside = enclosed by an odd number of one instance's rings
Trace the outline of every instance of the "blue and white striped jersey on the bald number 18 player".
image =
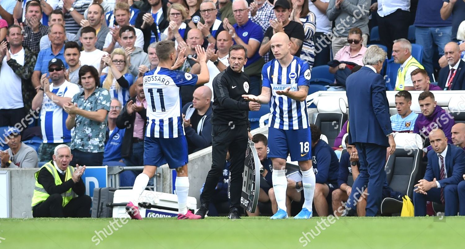
{"type": "Polygon", "coordinates": [[[282,67],[276,59],[263,66],[262,86],[271,88],[269,127],[283,130],[309,127],[307,102],[278,95],[276,91],[287,87],[291,87],[291,91],[298,91],[299,86],[309,85],[310,78],[308,63],[296,56],[287,67],[282,67]]]}

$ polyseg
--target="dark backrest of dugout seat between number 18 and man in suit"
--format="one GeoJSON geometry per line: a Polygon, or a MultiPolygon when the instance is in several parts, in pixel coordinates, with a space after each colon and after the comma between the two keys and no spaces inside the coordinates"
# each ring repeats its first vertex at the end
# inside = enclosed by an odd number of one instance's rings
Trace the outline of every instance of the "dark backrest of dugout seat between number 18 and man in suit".
{"type": "Polygon", "coordinates": [[[320,128],[321,134],[326,135],[326,142],[330,146],[333,146],[334,140],[338,137],[346,120],[347,115],[342,113],[317,113],[317,116],[315,117],[315,125],[320,128]]]}

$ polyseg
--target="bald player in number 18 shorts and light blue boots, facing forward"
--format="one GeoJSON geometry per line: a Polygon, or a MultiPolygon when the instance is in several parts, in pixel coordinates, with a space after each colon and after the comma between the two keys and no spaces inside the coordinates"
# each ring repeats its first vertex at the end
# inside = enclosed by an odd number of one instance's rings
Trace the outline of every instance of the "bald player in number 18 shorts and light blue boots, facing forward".
{"type": "Polygon", "coordinates": [[[312,217],[315,173],[312,170],[311,134],[308,123],[307,102],[310,69],[308,64],[290,53],[289,37],[278,32],[271,38],[271,51],[275,59],[263,66],[262,93],[259,96],[243,95],[246,100],[268,103],[271,99],[268,120],[268,157],[273,164],[273,190],[278,211],[272,219],[287,218],[286,211],[286,159],[299,161],[302,172],[305,202],[296,219],[312,217]]]}

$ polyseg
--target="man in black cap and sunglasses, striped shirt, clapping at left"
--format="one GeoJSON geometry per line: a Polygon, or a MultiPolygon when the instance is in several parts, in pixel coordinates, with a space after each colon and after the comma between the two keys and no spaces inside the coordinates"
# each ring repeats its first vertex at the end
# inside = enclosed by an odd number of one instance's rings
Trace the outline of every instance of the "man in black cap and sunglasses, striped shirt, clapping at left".
{"type": "Polygon", "coordinates": [[[58,58],[48,62],[47,75],[40,79],[40,89],[33,99],[33,109],[40,109],[40,127],[42,128],[42,144],[39,148],[39,161],[48,161],[53,156],[54,149],[60,144],[71,143],[71,130],[66,128],[68,114],[63,110],[63,104],[71,102],[73,96],[80,92],[79,86],[65,80],[65,64],[58,58]]]}

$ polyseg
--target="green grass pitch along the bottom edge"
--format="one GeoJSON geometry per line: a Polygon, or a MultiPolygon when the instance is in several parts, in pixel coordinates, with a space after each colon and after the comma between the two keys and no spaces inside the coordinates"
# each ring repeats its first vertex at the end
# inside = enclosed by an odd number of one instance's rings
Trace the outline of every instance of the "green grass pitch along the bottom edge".
{"type": "Polygon", "coordinates": [[[465,217],[345,217],[270,220],[269,217],[207,217],[204,220],[146,218],[0,219],[0,249],[184,249],[184,248],[464,248],[465,217]],[[323,229],[319,228],[318,224],[323,229]],[[121,226],[119,227],[118,224],[121,226]],[[110,227],[110,229],[108,228],[110,227]],[[106,237],[96,232],[113,232],[106,237]],[[311,232],[313,230],[313,233],[311,232]],[[317,234],[307,237],[303,233],[317,234]],[[306,241],[306,243],[304,243],[306,241]],[[98,244],[97,244],[98,243],[98,244]],[[97,245],[96,245],[97,244],[97,245]]]}

